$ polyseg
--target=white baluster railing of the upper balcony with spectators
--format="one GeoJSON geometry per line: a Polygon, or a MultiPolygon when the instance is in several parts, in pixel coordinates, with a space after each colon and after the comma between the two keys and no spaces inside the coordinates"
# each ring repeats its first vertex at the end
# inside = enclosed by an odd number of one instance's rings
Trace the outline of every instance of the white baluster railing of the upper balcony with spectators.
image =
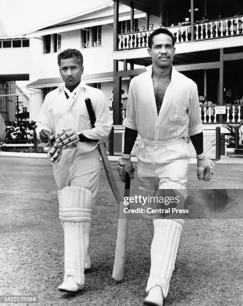
{"type": "MultiPolygon", "coordinates": [[[[243,15],[217,20],[199,21],[193,24],[195,41],[218,37],[229,37],[242,34],[243,15]]],[[[175,43],[191,41],[191,25],[169,26],[167,29],[174,35],[175,43]]],[[[117,50],[148,47],[148,37],[152,31],[144,30],[118,34],[117,50]]]]}

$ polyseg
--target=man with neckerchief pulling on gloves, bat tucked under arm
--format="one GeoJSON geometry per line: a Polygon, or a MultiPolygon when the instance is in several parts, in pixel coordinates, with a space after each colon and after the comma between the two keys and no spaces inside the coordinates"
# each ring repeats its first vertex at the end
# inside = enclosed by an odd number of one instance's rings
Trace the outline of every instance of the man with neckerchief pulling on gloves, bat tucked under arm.
{"type": "Polygon", "coordinates": [[[108,136],[112,117],[103,92],[84,84],[83,57],[76,49],[57,56],[63,84],[44,99],[36,134],[53,143],[49,159],[58,187],[59,218],[64,230],[64,279],[58,289],[77,291],[84,285],[91,211],[99,184],[98,140],[108,136]],[[85,99],[96,117],[92,127],[85,99]]]}

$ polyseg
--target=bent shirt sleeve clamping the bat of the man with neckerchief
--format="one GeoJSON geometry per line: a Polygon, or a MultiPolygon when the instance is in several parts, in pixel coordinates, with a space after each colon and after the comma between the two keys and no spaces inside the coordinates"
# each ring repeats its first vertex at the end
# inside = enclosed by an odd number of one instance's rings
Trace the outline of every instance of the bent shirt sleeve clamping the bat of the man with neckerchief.
{"type": "Polygon", "coordinates": [[[91,103],[96,118],[95,127],[81,130],[80,133],[90,139],[104,139],[109,135],[113,124],[104,93],[99,91],[91,103]]]}

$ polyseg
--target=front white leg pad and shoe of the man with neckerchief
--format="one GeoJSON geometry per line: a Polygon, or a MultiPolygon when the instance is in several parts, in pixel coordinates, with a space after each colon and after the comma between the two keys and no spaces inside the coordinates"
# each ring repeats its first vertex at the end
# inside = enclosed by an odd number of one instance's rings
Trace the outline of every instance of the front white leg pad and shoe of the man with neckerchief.
{"type": "Polygon", "coordinates": [[[59,218],[64,230],[64,280],[62,291],[77,291],[84,285],[92,193],[83,187],[64,187],[59,193],[59,218]]]}

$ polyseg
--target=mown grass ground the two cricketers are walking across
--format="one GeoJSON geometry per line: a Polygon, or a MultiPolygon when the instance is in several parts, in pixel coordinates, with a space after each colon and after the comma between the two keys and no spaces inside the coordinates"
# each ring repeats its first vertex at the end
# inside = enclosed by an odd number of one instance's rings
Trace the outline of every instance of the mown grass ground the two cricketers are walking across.
{"type": "MultiPolygon", "coordinates": [[[[116,175],[116,163],[111,166],[116,175]]],[[[116,283],[111,273],[118,209],[103,169],[92,213],[91,268],[85,288],[75,294],[57,290],[63,232],[48,160],[2,156],[0,172],[0,295],[36,294],[41,306],[142,305],[151,236],[141,220],[130,221],[125,275],[116,283]]],[[[242,188],[242,172],[243,164],[217,164],[207,183],[196,179],[192,164],[188,188],[242,188]]],[[[122,188],[118,177],[117,183],[122,188]]],[[[242,305],[242,240],[241,219],[187,220],[164,305],[242,305]]]]}

